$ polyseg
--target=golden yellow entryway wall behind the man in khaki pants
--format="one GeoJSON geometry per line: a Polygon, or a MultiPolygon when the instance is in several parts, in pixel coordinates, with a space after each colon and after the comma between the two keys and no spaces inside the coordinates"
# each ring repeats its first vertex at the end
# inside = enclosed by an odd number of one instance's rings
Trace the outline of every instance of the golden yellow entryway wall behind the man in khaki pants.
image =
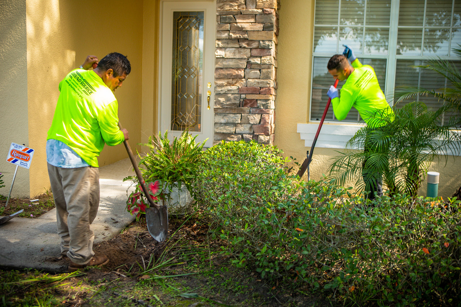
{"type": "MultiPolygon", "coordinates": [[[[49,188],[45,144],[59,81],[87,55],[102,58],[116,51],[128,56],[131,73],[115,93],[118,116],[130,133],[133,151],[141,142],[143,2],[27,0],[26,4],[29,146],[35,149],[30,196],[34,196],[49,188]]],[[[125,157],[123,144],[106,146],[99,165],[125,157]]]]}

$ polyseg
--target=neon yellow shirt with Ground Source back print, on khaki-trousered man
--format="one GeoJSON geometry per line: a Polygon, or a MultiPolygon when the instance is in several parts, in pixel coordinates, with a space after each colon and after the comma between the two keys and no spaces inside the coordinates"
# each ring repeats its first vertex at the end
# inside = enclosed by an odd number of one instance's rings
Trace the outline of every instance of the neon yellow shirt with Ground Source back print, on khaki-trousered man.
{"type": "Polygon", "coordinates": [[[124,141],[118,128],[118,103],[93,70],[72,70],[59,83],[59,98],[48,139],[71,147],[89,165],[98,167],[104,144],[124,141]]]}

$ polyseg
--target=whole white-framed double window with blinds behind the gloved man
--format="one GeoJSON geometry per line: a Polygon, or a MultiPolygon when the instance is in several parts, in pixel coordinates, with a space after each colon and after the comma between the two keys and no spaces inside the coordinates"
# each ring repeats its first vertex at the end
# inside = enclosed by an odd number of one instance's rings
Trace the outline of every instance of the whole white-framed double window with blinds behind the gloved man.
{"type": "MultiPolygon", "coordinates": [[[[311,121],[323,114],[334,83],[326,64],[343,52],[343,44],[373,67],[390,104],[396,86],[443,88],[444,78],[414,66],[436,57],[459,60],[451,49],[461,44],[461,0],[316,0],[311,121]]],[[[418,99],[431,110],[443,104],[436,98],[418,99]]],[[[326,120],[337,121],[331,109],[326,120]]],[[[361,118],[352,108],[344,121],[361,118]]]]}

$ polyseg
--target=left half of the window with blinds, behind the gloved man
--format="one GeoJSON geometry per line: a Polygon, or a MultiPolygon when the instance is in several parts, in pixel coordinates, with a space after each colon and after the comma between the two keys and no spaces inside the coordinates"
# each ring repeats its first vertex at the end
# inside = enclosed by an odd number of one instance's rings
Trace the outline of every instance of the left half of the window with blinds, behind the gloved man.
{"type": "MultiPolygon", "coordinates": [[[[311,116],[320,120],[325,110],[326,95],[334,78],[326,65],[334,53],[342,53],[342,44],[354,49],[364,65],[375,70],[379,85],[385,89],[387,58],[367,58],[367,55],[386,56],[389,46],[391,0],[318,0],[315,6],[311,116]],[[329,56],[325,56],[328,54],[329,56]]],[[[344,82],[339,82],[341,89],[344,82]]],[[[337,121],[330,107],[327,121],[337,121]]],[[[352,108],[343,122],[360,122],[358,111],[352,108]]]]}

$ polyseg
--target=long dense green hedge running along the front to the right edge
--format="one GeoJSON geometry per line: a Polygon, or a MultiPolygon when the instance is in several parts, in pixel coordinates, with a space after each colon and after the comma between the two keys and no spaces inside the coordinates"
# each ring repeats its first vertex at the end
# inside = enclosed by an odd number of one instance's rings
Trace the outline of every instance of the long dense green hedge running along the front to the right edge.
{"type": "Polygon", "coordinates": [[[197,195],[237,266],[349,302],[459,304],[458,201],[397,195],[365,206],[347,189],[286,175],[280,152],[255,143],[216,145],[204,161],[197,195]]]}

